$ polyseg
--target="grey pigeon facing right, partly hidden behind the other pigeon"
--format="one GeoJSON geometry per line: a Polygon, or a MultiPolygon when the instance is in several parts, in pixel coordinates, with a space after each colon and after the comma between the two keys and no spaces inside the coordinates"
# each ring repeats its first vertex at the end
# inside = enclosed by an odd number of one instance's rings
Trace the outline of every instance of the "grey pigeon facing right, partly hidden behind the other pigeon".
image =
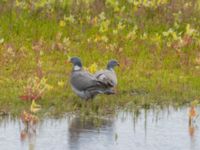
{"type": "Polygon", "coordinates": [[[95,73],[95,77],[102,81],[107,87],[105,94],[115,94],[113,88],[117,85],[117,76],[114,71],[116,66],[119,66],[119,63],[116,60],[110,60],[105,70],[95,73]]]}

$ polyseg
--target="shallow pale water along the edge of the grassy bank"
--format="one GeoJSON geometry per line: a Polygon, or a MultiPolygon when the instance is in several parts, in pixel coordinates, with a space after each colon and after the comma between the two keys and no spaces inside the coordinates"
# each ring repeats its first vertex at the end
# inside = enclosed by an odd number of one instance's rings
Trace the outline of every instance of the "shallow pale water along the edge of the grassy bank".
{"type": "MultiPolygon", "coordinates": [[[[197,109],[200,112],[200,108],[197,109]]],[[[119,112],[113,117],[46,118],[21,137],[20,120],[0,121],[1,150],[199,150],[200,119],[188,125],[187,108],[119,112]]]]}

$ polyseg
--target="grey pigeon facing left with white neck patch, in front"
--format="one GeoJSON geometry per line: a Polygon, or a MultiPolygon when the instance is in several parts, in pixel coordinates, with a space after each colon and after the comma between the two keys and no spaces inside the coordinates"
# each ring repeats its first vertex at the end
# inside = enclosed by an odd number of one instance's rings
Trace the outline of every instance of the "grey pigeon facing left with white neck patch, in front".
{"type": "Polygon", "coordinates": [[[106,85],[98,81],[94,75],[83,70],[80,58],[72,57],[70,62],[73,64],[70,78],[71,87],[79,97],[88,100],[105,92],[106,85]]]}

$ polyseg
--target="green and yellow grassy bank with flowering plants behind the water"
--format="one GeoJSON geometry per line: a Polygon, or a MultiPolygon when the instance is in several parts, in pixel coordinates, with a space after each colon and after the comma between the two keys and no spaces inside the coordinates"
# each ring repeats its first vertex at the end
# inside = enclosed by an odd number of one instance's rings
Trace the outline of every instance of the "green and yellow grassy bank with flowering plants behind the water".
{"type": "Polygon", "coordinates": [[[116,108],[199,99],[199,8],[190,1],[43,2],[0,2],[1,111],[18,114],[29,109],[31,102],[20,95],[28,78],[38,75],[51,87],[39,101],[41,114],[103,115],[116,108]],[[66,63],[75,55],[84,66],[96,63],[98,69],[117,59],[117,95],[88,102],[75,96],[68,81],[71,65],[66,63]]]}

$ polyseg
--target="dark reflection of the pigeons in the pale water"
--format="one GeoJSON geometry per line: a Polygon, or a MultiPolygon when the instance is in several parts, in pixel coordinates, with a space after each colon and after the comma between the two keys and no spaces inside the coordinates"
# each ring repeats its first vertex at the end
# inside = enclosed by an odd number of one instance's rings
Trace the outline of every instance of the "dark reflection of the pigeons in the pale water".
{"type": "Polygon", "coordinates": [[[103,140],[105,145],[109,144],[113,141],[113,126],[113,119],[110,118],[72,118],[68,129],[70,149],[89,148],[90,144],[98,139],[103,140]]]}

